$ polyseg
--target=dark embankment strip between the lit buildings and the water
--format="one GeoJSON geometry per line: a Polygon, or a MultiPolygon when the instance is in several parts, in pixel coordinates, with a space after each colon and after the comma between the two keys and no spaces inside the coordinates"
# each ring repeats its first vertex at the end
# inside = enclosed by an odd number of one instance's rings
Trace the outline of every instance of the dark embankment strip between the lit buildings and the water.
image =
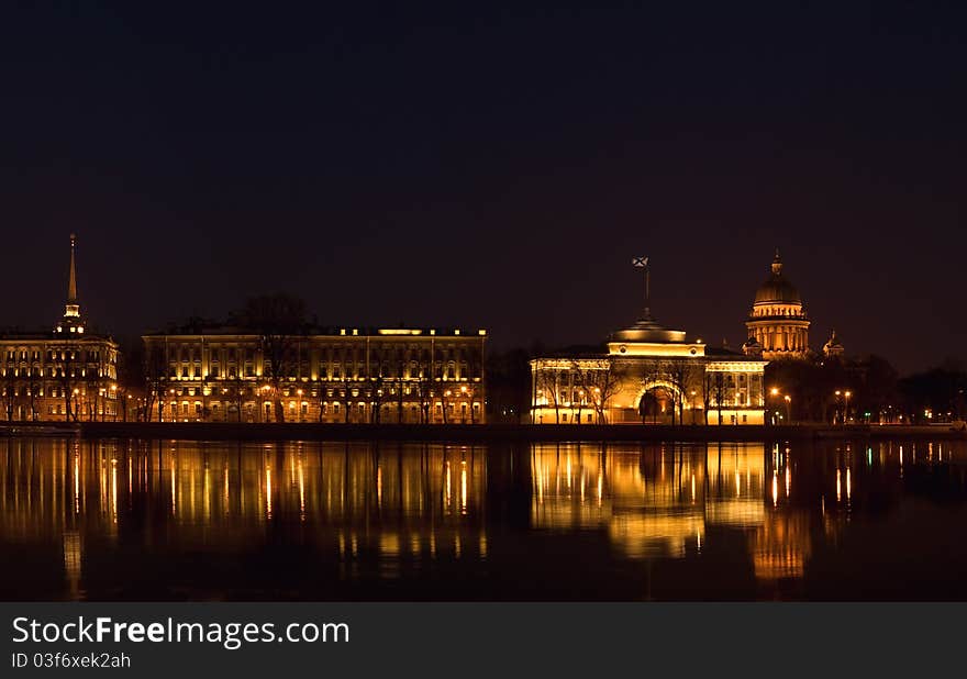
{"type": "Polygon", "coordinates": [[[180,438],[189,441],[430,441],[455,443],[563,441],[811,441],[931,438],[967,441],[949,426],[801,424],[792,426],[630,424],[318,424],[78,422],[0,425],[0,436],[180,438]]]}

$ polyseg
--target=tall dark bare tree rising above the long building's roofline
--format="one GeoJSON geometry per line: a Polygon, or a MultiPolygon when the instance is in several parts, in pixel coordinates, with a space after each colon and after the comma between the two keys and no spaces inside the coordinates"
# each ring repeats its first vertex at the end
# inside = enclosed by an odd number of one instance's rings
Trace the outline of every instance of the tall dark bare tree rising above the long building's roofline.
{"type": "Polygon", "coordinates": [[[298,335],[305,332],[305,302],[288,294],[276,293],[249,298],[240,312],[240,325],[258,335],[263,355],[263,374],[268,378],[276,422],[286,421],[281,381],[286,359],[298,335]]]}

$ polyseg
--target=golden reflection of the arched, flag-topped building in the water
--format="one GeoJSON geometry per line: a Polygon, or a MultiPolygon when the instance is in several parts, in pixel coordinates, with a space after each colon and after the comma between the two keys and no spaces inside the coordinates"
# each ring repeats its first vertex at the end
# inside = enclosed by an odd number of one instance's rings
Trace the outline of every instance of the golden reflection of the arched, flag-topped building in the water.
{"type": "Polygon", "coordinates": [[[711,527],[756,530],[765,512],[762,444],[603,450],[533,447],[532,524],[607,531],[630,558],[687,556],[711,527]]]}

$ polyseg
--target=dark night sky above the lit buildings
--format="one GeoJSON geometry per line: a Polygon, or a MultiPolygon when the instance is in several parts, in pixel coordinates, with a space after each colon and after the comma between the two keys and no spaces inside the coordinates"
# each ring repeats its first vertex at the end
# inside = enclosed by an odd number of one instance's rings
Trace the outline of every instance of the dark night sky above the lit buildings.
{"type": "Polygon", "coordinates": [[[813,348],[964,358],[960,4],[3,3],[0,324],[59,315],[76,231],[122,334],[287,290],[596,342],[648,255],[736,346],[778,246],[813,348]]]}

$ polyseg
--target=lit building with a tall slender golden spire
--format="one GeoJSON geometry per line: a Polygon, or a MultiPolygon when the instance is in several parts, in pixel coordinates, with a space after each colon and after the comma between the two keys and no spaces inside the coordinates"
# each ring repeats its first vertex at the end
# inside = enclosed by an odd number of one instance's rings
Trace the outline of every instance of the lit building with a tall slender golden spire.
{"type": "Polygon", "coordinates": [[[67,302],[55,326],[0,334],[3,420],[118,419],[118,344],[92,332],[80,312],[76,247],[71,234],[67,302]]]}

